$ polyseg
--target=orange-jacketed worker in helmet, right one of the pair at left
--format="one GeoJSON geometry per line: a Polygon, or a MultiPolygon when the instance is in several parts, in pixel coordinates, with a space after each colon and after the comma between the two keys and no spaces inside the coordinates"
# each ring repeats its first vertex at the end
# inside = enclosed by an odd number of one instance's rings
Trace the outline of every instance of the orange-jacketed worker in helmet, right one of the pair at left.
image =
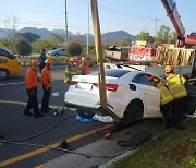
{"type": "Polygon", "coordinates": [[[41,70],[41,86],[44,91],[44,96],[42,96],[42,101],[41,101],[41,112],[48,113],[49,110],[51,109],[48,104],[51,95],[51,73],[50,69],[52,67],[52,60],[51,59],[46,59],[45,61],[46,65],[41,70]]]}

